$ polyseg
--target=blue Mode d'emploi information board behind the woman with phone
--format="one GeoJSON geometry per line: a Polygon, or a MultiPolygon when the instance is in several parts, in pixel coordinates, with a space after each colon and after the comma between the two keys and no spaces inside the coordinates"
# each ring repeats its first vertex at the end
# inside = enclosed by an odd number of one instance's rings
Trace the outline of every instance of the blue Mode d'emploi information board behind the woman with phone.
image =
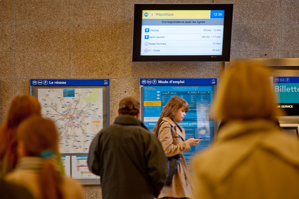
{"type": "Polygon", "coordinates": [[[180,125],[185,129],[186,140],[202,137],[202,141],[184,152],[191,168],[194,154],[210,146],[216,133],[217,122],[210,110],[215,97],[217,79],[140,79],[141,120],[153,131],[161,111],[173,96],[182,97],[189,104],[189,111],[180,125]]]}

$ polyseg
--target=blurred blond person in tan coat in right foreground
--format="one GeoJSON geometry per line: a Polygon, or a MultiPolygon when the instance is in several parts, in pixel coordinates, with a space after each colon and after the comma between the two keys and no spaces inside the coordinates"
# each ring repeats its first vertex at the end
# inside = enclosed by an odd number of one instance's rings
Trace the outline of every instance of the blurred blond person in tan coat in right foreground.
{"type": "Polygon", "coordinates": [[[277,124],[266,68],[228,69],[214,114],[225,123],[194,160],[196,199],[299,198],[299,143],[277,124]]]}

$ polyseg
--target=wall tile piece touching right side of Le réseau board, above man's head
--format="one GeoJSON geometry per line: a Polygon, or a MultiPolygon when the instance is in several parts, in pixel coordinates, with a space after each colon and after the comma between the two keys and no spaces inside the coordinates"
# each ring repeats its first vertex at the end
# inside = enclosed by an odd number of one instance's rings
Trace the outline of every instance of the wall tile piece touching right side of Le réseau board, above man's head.
{"type": "Polygon", "coordinates": [[[124,79],[109,79],[110,105],[118,105],[124,97],[124,79]]]}

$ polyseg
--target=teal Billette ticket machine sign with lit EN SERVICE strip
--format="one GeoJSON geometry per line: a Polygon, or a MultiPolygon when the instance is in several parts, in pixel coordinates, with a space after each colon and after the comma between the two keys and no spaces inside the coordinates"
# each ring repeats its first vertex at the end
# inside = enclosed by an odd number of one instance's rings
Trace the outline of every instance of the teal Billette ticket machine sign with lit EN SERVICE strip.
{"type": "Polygon", "coordinates": [[[287,115],[299,115],[299,77],[273,77],[276,108],[283,108],[287,115]]]}

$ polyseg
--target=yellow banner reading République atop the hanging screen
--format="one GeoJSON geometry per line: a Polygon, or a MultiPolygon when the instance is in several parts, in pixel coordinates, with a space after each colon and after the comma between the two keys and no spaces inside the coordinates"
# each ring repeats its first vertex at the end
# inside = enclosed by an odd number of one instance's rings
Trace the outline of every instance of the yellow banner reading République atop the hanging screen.
{"type": "Polygon", "coordinates": [[[142,10],[142,19],[210,19],[210,10],[142,10]]]}

